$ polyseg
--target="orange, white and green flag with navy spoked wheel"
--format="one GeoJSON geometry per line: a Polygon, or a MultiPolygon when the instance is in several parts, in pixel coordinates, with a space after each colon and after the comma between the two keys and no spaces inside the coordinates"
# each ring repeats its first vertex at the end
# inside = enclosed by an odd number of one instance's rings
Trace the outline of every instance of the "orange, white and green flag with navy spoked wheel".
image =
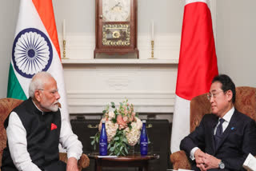
{"type": "Polygon", "coordinates": [[[25,100],[30,80],[40,71],[53,75],[69,119],[58,34],[51,0],[21,0],[10,62],[7,97],[25,100]]]}

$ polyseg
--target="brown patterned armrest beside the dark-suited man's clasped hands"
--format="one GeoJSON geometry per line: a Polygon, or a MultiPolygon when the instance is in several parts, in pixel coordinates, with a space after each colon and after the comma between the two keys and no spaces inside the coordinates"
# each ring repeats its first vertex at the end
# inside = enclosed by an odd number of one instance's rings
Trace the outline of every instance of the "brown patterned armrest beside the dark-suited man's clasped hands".
{"type": "Polygon", "coordinates": [[[173,164],[174,169],[191,169],[190,161],[182,150],[170,154],[170,162],[173,164]]]}

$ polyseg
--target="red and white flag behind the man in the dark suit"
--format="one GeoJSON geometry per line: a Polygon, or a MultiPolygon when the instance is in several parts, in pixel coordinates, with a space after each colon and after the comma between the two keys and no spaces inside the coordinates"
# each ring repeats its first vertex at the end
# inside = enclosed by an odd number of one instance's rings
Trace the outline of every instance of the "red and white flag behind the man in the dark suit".
{"type": "Polygon", "coordinates": [[[218,75],[209,0],[186,0],[174,106],[171,152],[190,133],[190,100],[210,90],[218,75]]]}

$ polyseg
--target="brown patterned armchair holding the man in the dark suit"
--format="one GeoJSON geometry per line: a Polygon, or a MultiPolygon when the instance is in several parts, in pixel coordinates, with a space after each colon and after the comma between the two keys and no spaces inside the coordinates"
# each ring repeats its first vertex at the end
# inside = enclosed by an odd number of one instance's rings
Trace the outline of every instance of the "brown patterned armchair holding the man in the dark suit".
{"type": "MultiPolygon", "coordinates": [[[[256,120],[256,88],[237,87],[234,107],[256,120]]],[[[190,101],[190,132],[194,131],[206,113],[210,113],[210,101],[204,93],[190,101]]],[[[186,153],[182,150],[170,154],[170,162],[173,163],[174,169],[191,169],[186,153]]]]}

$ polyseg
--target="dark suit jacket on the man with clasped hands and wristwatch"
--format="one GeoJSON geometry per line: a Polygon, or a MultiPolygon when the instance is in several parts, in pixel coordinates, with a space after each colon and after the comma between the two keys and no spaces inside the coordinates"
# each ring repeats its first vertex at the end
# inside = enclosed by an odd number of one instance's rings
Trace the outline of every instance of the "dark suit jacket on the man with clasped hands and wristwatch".
{"type": "Polygon", "coordinates": [[[256,155],[255,121],[235,109],[229,125],[222,134],[222,140],[215,148],[214,128],[217,123],[218,117],[206,114],[194,132],[181,141],[180,149],[190,158],[191,149],[198,147],[205,153],[221,159],[226,169],[244,170],[242,164],[247,155],[256,155]]]}

